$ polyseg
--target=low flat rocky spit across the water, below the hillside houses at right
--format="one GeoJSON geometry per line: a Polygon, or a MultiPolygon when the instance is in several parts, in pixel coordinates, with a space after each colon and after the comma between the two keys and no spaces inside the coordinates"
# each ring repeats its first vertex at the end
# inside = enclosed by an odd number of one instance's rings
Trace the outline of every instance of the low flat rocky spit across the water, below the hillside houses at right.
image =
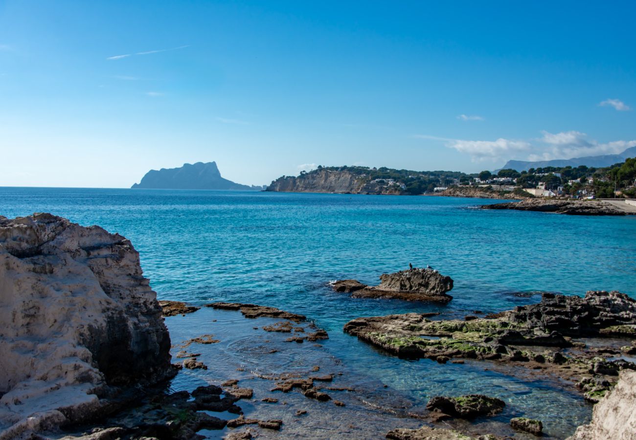
{"type": "Polygon", "coordinates": [[[555,200],[529,198],[521,202],[481,205],[481,209],[513,209],[520,211],[555,212],[570,216],[625,216],[630,214],[602,200],[555,200]]]}

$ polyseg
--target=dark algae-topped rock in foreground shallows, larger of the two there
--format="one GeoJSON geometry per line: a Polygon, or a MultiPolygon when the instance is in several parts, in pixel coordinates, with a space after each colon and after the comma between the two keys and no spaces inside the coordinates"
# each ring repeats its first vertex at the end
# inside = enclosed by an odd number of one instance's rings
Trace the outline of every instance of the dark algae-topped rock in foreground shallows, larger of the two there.
{"type": "Polygon", "coordinates": [[[468,394],[460,397],[433,397],[426,404],[426,409],[439,411],[459,417],[474,418],[476,416],[492,416],[503,411],[506,403],[496,397],[483,394],[468,394]]]}

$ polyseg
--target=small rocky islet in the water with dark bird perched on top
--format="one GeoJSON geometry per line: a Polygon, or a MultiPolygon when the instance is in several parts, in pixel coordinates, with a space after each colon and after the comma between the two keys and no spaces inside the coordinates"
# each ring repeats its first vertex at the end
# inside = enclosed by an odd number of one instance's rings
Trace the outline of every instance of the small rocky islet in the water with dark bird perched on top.
{"type": "Polygon", "coordinates": [[[453,288],[452,278],[436,270],[411,268],[380,275],[380,284],[366,285],[356,280],[338,280],[331,283],[336,292],[351,293],[354,298],[396,298],[407,301],[433,301],[448,303],[446,294],[453,288]]]}

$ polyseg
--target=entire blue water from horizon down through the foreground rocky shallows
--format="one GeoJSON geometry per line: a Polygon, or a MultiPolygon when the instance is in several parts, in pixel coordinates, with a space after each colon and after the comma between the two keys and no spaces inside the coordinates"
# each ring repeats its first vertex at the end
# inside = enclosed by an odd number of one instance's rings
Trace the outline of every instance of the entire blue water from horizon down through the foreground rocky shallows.
{"type": "MultiPolygon", "coordinates": [[[[489,313],[539,303],[540,294],[583,296],[598,288],[623,291],[625,298],[635,294],[630,268],[636,251],[633,243],[621,239],[633,230],[631,216],[482,212],[470,208],[492,201],[445,197],[378,200],[15,188],[0,189],[0,196],[7,205],[2,212],[6,217],[27,214],[24,209],[31,206],[54,214],[70,212],[71,221],[120,232],[139,251],[144,276],[158,298],[186,303],[172,303],[165,317],[172,363],[180,369],[160,392],[168,394],[154,403],[149,397],[146,404],[158,405],[160,413],[169,404],[187,414],[195,406],[216,408],[206,410],[205,416],[183,415],[183,429],[209,438],[248,431],[264,438],[310,432],[315,437],[384,436],[389,430],[401,436],[410,434],[400,429],[417,430],[429,423],[474,438],[531,438],[509,425],[512,418],[520,418],[516,423],[522,425],[528,423],[523,418],[540,420],[544,436],[565,438],[590,422],[592,406],[583,400],[583,392],[602,397],[594,387],[578,390],[565,378],[534,369],[520,373],[517,366],[496,359],[401,359],[343,333],[343,326],[361,317],[400,313],[475,326],[489,313]],[[92,203],[86,204],[88,199],[92,203]],[[550,246],[537,247],[541,243],[550,246]],[[351,298],[329,285],[329,280],[347,277],[377,285],[382,273],[411,262],[416,268],[430,264],[452,276],[452,301],[351,298]],[[205,307],[211,303],[219,308],[205,307]],[[321,331],[324,338],[310,336],[321,331]],[[193,404],[184,397],[186,391],[193,404]],[[435,396],[473,394],[497,397],[506,406],[492,416],[452,418],[441,424],[435,424],[426,409],[435,396]],[[212,404],[215,401],[222,405],[212,404]],[[215,412],[222,407],[230,413],[215,412]],[[243,416],[237,418],[232,411],[243,416]],[[366,425],[356,422],[361,420],[366,425]]],[[[439,332],[429,336],[444,337],[439,332]]],[[[574,340],[574,347],[585,343],[604,362],[621,357],[632,362],[630,338],[631,333],[623,332],[589,342],[574,340]]],[[[560,345],[566,357],[573,353],[560,345]]],[[[539,358],[534,361],[541,363],[539,358]]],[[[607,374],[618,378],[618,370],[607,374]]],[[[609,381],[612,386],[615,380],[609,381]]],[[[79,434],[80,429],[66,432],[79,434]]]]}

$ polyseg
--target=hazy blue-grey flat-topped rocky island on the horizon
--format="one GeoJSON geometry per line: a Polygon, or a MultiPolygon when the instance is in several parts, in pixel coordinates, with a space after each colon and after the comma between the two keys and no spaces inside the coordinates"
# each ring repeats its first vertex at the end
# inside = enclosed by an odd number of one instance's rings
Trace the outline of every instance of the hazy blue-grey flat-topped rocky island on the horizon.
{"type": "Polygon", "coordinates": [[[153,189],[242,189],[261,191],[262,186],[242,185],[223,179],[216,162],[184,163],[180,168],[150,170],[130,188],[153,189]]]}

